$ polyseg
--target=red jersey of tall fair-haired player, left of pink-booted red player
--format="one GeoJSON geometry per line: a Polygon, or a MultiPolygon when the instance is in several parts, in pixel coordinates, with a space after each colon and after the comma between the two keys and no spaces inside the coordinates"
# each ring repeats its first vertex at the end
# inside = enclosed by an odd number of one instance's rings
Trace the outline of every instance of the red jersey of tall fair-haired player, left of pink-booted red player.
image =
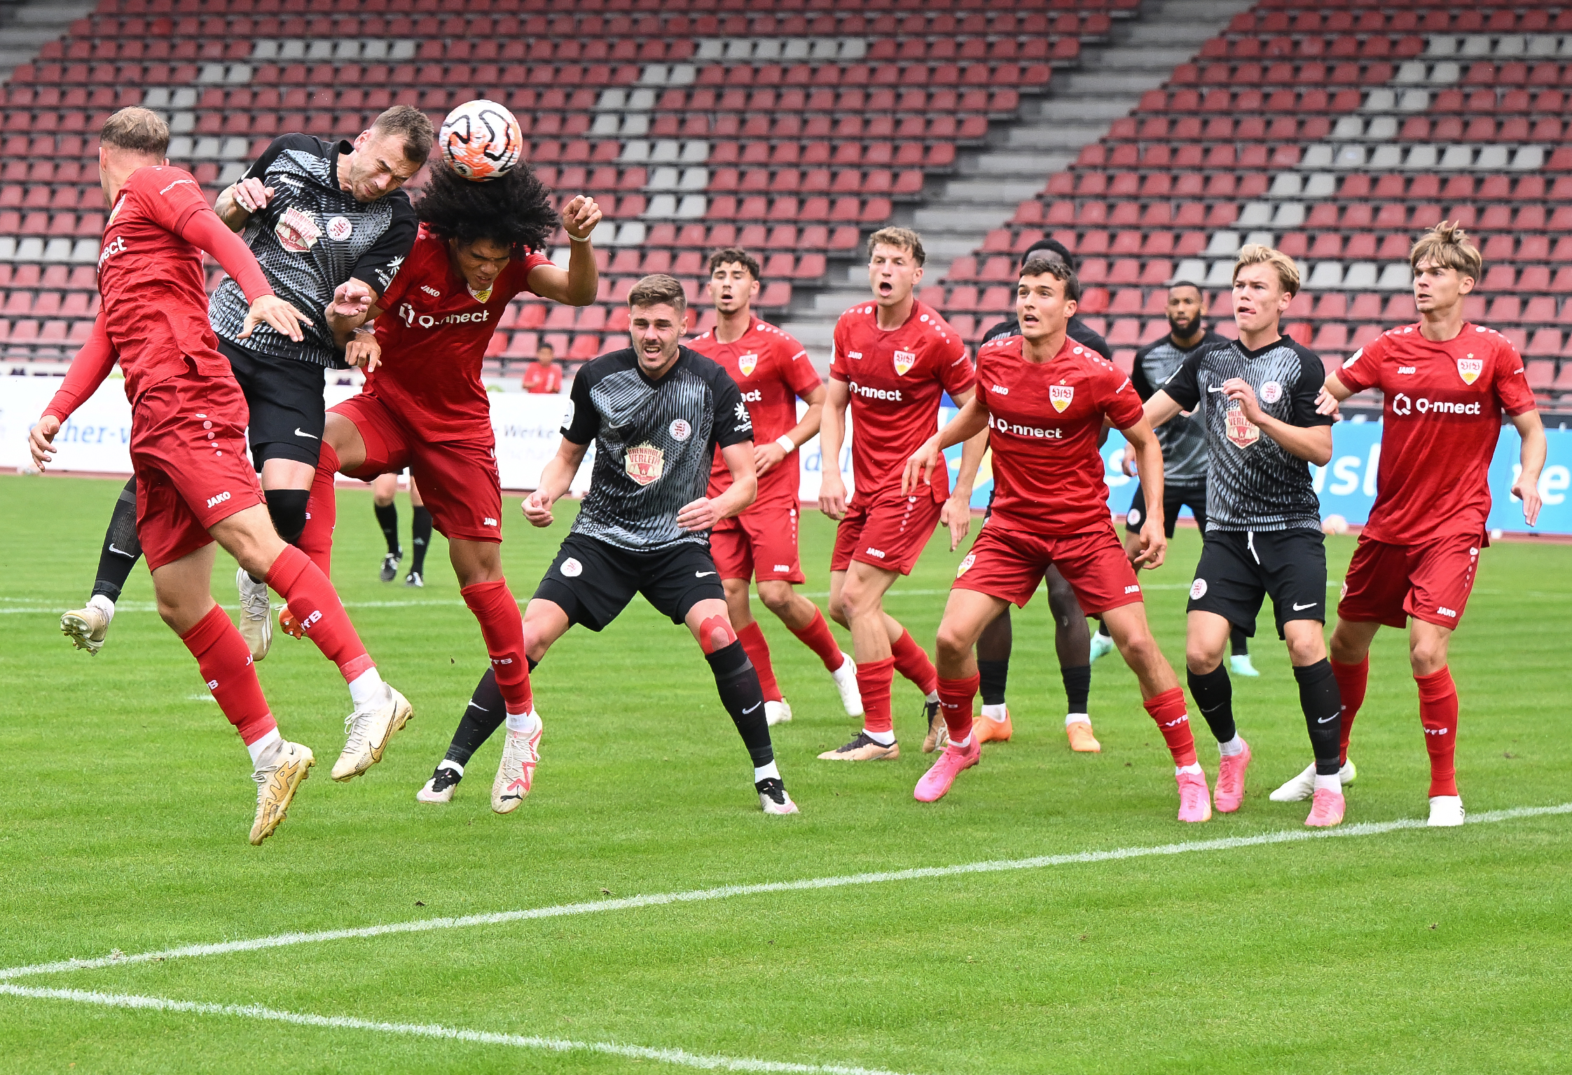
{"type": "MultiPolygon", "coordinates": [[[[858,500],[901,489],[913,451],[938,429],[938,401],[973,385],[960,336],[918,300],[898,328],[880,328],[879,306],[852,306],[835,322],[830,379],[852,391],[852,479],[858,500]]],[[[934,498],[949,497],[949,470],[934,471],[934,498]]]]}

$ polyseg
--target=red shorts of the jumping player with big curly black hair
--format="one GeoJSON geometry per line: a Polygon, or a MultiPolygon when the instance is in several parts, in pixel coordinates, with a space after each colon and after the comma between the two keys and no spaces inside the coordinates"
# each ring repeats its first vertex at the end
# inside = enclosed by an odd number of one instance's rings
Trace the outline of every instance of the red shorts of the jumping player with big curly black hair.
{"type": "Polygon", "coordinates": [[[450,541],[501,541],[501,476],[489,421],[478,423],[468,440],[429,442],[365,391],[327,413],[355,423],[366,443],[366,460],[351,478],[371,481],[409,467],[437,533],[450,541]]]}

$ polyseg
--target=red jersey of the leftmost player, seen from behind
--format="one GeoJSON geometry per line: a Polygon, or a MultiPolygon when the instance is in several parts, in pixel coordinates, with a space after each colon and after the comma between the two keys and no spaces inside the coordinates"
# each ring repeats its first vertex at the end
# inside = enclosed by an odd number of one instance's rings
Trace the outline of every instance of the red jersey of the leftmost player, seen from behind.
{"type": "Polygon", "coordinates": [[[101,322],[132,402],[185,372],[187,358],[203,376],[230,376],[208,324],[201,250],[181,237],[198,212],[212,209],[189,171],[148,167],[130,173],[104,225],[101,322]]]}

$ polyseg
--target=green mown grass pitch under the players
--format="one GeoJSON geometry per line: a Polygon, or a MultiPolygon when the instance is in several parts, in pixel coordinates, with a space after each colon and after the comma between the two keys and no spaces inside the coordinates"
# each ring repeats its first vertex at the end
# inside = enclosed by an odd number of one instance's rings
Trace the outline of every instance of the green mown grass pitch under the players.
{"type": "MultiPolygon", "coordinates": [[[[368,492],[340,492],[333,575],[415,720],[369,775],[327,776],[347,693],[308,643],[258,668],[286,736],[319,765],[263,847],[245,751],[138,567],[108,646],[71,649],[119,482],[0,478],[0,967],[682,893],[1261,833],[1308,805],[1267,792],[1308,761],[1287,659],[1259,637],[1236,681],[1254,748],[1248,797],[1174,820],[1168,754],[1118,657],[1093,676],[1102,754],[1064,743],[1045,602],[1016,615],[1016,739],[940,803],[912,800],[915,688],[896,684],[896,762],[827,764],[850,731],[817,660],[761,611],[795,721],[777,751],[799,817],[764,817],[747,754],[681,627],[635,602],[575,630],[536,673],[534,794],[497,817],[498,745],[450,806],[415,791],[484,670],[439,538],[428,585],[376,578],[368,492]]],[[[399,498],[409,526],[407,501],[399,498]]],[[[566,533],[506,506],[503,555],[527,599],[566,533]]],[[[566,514],[566,512],[564,512],[566,514]]],[[[832,526],[803,520],[806,593],[832,526]]],[[[1144,575],[1176,666],[1199,541],[1144,575]]],[[[1331,539],[1341,577],[1353,539],[1331,539]]],[[[935,539],[888,608],[932,644],[956,556],[935,539]]],[[[1498,544],[1451,666],[1470,814],[1572,802],[1572,547],[1498,544]]],[[[214,593],[234,604],[233,563],[214,593]]],[[[822,605],[822,596],[819,599],[822,605]]],[[[844,632],[838,632],[846,640],[844,632]]],[[[1270,635],[1270,632],[1264,632],[1270,635]]],[[[849,646],[849,641],[844,644],[849,646]]],[[[1217,751],[1196,721],[1201,761],[1217,751]]],[[[1401,632],[1382,632],[1353,739],[1349,824],[1424,817],[1426,754],[1401,632]]],[[[288,1025],[222,1011],[104,1007],[0,993],[0,1069],[17,1072],[692,1070],[656,1056],[435,1039],[371,1023],[561,1044],[685,1050],[731,1070],[1566,1072],[1572,1070],[1572,816],[1459,830],[1196,850],[935,879],[744,894],[564,918],[387,934],[6,978],[363,1020],[288,1025]],[[789,1069],[784,1066],[803,1066],[789,1069]]],[[[670,1058],[668,1058],[670,1059],[670,1058]]],[[[681,1059],[681,1058],[678,1058],[681,1059]]]]}

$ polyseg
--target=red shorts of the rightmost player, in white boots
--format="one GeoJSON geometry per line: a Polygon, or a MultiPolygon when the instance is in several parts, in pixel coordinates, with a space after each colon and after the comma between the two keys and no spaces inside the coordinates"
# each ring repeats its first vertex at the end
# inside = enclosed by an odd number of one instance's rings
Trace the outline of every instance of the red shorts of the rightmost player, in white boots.
{"type": "Polygon", "coordinates": [[[1437,538],[1423,545],[1390,545],[1360,536],[1342,577],[1338,616],[1405,627],[1409,616],[1457,627],[1473,591],[1484,534],[1437,538]]]}

